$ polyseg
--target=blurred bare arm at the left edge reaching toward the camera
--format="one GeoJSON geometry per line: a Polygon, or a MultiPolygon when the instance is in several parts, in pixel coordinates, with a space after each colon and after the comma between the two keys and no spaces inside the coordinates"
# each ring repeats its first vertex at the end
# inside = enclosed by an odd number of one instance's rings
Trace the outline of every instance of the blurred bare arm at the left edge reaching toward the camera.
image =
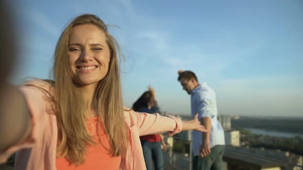
{"type": "Polygon", "coordinates": [[[23,93],[5,84],[0,93],[0,152],[23,142],[31,132],[31,117],[23,93]]]}

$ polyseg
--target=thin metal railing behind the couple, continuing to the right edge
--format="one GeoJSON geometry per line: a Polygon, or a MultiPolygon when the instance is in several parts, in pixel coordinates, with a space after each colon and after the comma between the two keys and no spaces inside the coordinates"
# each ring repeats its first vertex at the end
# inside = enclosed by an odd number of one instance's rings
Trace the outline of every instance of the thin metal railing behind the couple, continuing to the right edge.
{"type": "MultiPolygon", "coordinates": [[[[181,160],[184,160],[184,161],[187,161],[189,163],[189,167],[188,169],[189,170],[192,170],[192,164],[193,164],[193,141],[192,140],[186,140],[186,139],[183,139],[183,138],[179,138],[179,137],[169,137],[167,135],[163,135],[165,138],[169,139],[169,138],[172,138],[173,141],[171,141],[172,143],[174,143],[174,139],[178,139],[178,140],[183,140],[183,141],[186,141],[188,143],[190,143],[190,151],[188,153],[188,156],[189,156],[189,160],[185,159],[184,157],[182,156],[178,156],[178,155],[174,155],[174,157],[178,158],[178,159],[181,159],[181,160]]],[[[171,143],[168,143],[168,146],[169,146],[169,150],[168,150],[168,155],[169,155],[169,164],[175,168],[175,169],[180,169],[178,167],[176,167],[174,165],[174,163],[172,163],[172,156],[173,156],[173,145],[170,145],[171,143]]],[[[235,151],[235,150],[232,150],[230,148],[225,148],[226,151],[230,151],[230,152],[234,152],[234,153],[239,153],[239,154],[243,154],[243,155],[249,155],[249,156],[252,156],[252,157],[256,157],[256,158],[261,158],[263,160],[269,160],[269,161],[274,161],[274,162],[278,162],[278,163],[282,163],[282,164],[285,164],[285,165],[290,165],[290,166],[296,166],[296,167],[300,167],[300,168],[303,168],[302,165],[298,165],[298,164],[294,164],[294,163],[291,163],[291,162],[287,162],[287,161],[283,161],[283,160],[279,160],[279,159],[274,159],[274,158],[269,158],[269,157],[265,157],[265,156],[259,156],[259,155],[255,155],[255,154],[250,154],[250,153],[246,153],[246,152],[241,152],[241,151],[235,151]]]]}

